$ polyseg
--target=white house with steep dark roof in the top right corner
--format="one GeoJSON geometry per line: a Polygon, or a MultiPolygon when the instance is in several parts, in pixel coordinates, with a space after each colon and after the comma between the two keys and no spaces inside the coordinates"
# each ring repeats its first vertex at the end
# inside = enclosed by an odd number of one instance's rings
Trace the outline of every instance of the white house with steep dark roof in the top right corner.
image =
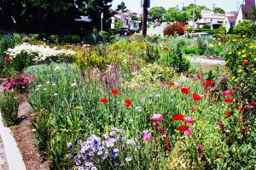
{"type": "Polygon", "coordinates": [[[240,8],[237,14],[236,25],[242,20],[253,21],[251,13],[253,11],[253,6],[255,5],[256,5],[255,0],[243,0],[243,3],[240,5],[240,8]]]}

